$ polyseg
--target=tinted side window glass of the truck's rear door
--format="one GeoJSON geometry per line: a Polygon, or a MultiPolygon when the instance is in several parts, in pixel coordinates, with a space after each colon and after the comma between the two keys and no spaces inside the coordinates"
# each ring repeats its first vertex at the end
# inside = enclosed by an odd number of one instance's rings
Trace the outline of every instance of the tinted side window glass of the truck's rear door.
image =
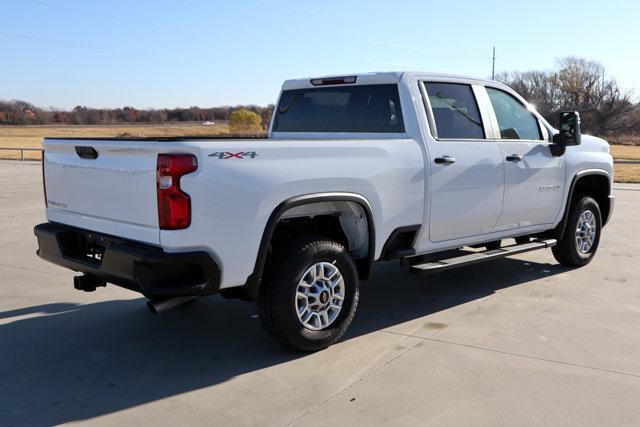
{"type": "Polygon", "coordinates": [[[484,127],[471,86],[426,83],[438,139],[484,139],[484,127]]]}

